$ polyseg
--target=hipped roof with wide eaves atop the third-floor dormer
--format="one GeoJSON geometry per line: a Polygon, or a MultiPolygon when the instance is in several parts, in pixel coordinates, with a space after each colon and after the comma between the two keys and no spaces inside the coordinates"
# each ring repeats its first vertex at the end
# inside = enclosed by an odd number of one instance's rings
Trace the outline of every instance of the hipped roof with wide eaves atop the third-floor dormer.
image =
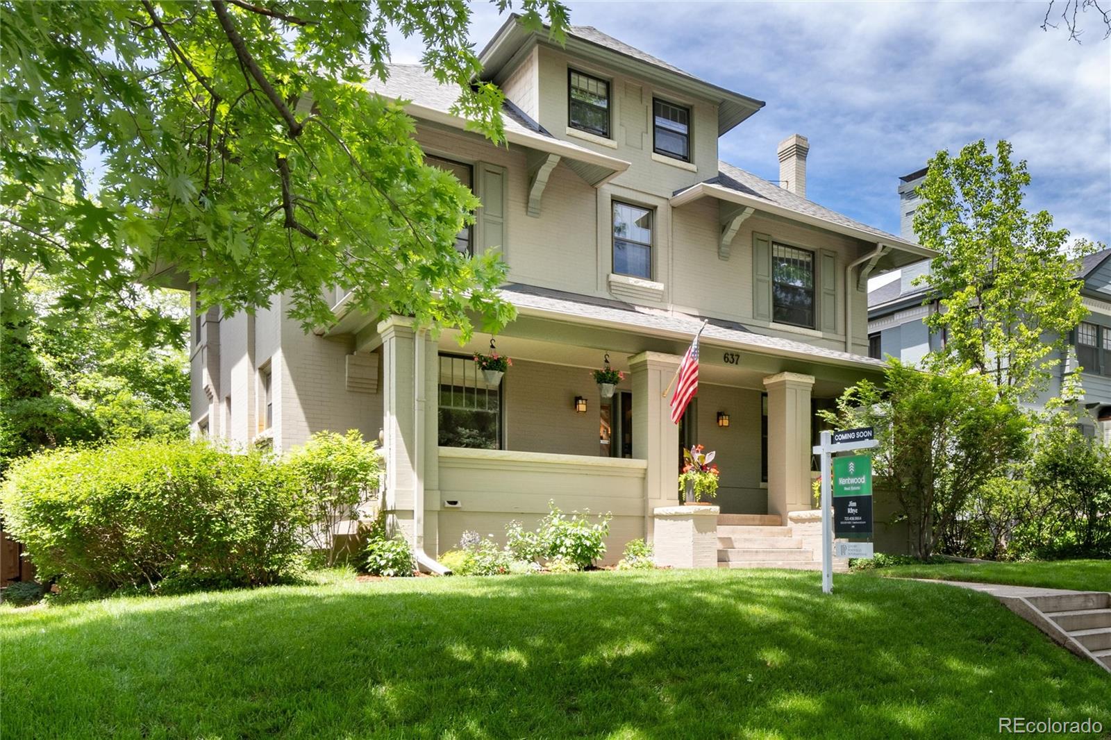
{"type": "MultiPolygon", "coordinates": [[[[554,42],[549,40],[548,32],[547,26],[539,31],[530,31],[520,23],[520,16],[510,13],[506,22],[479,52],[479,59],[482,62],[482,78],[488,80],[498,78],[503,70],[516,66],[522,52],[537,43],[554,47],[554,42]]],[[[662,59],[657,59],[608,33],[602,33],[592,26],[569,27],[563,49],[573,57],[589,59],[605,68],[622,71],[633,77],[658,81],[715,103],[718,106],[718,136],[731,130],[764,107],[762,100],[699,79],[674,64],[669,64],[662,59]]]]}

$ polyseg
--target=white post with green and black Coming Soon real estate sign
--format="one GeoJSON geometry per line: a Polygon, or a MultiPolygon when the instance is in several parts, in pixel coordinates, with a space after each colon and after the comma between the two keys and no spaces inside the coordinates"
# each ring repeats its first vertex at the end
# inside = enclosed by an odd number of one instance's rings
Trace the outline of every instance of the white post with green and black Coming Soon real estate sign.
{"type": "MultiPolygon", "coordinates": [[[[865,454],[857,454],[833,460],[834,452],[851,452],[869,450],[879,447],[871,427],[845,429],[838,432],[823,431],[820,443],[814,446],[814,454],[822,456],[822,593],[833,592],[833,524],[830,517],[834,504],[831,499],[843,499],[838,507],[838,537],[872,536],[872,459],[865,454]],[[831,474],[832,473],[832,474],[831,474]],[[837,479],[837,491],[831,483],[837,479]],[[867,497],[867,503],[865,503],[867,497]],[[867,506],[867,512],[864,508],[867,506]]],[[[842,544],[863,546],[863,542],[842,544]]],[[[868,542],[867,544],[871,544],[868,542]]],[[[871,548],[867,548],[871,549],[871,548]]],[[[863,554],[864,548],[851,548],[852,557],[870,557],[863,554]]],[[[849,552],[850,548],[838,547],[839,553],[849,552]]]]}

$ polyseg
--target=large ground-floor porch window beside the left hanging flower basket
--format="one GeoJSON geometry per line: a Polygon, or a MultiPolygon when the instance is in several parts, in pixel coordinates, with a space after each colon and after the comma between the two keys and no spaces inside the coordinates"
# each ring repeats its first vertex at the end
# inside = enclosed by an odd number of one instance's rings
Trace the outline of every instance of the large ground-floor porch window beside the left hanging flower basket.
{"type": "Polygon", "coordinates": [[[440,356],[440,447],[501,447],[501,386],[469,357],[440,356]]]}

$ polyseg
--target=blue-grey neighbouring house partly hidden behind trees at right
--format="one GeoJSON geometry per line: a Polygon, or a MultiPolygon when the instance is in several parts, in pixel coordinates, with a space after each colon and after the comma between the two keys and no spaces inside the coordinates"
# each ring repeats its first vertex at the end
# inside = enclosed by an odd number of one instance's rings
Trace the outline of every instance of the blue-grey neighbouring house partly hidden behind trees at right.
{"type": "MultiPolygon", "coordinates": [[[[914,209],[919,203],[917,188],[925,180],[925,169],[899,179],[900,230],[903,239],[914,239],[914,209]]],[[[941,310],[939,297],[918,278],[930,270],[929,261],[900,269],[890,282],[877,286],[868,293],[869,356],[881,359],[895,357],[907,363],[918,363],[928,352],[943,347],[943,337],[924,323],[925,317],[941,310]]],[[[1060,394],[1061,382],[1081,368],[1083,398],[1078,399],[1084,413],[1081,429],[1090,437],[1111,443],[1111,249],[1083,259],[1077,279],[1083,281],[1081,299],[1088,317],[1069,339],[1074,357],[1060,361],[1050,387],[1034,408],[1042,408],[1050,398],[1060,394]]]]}

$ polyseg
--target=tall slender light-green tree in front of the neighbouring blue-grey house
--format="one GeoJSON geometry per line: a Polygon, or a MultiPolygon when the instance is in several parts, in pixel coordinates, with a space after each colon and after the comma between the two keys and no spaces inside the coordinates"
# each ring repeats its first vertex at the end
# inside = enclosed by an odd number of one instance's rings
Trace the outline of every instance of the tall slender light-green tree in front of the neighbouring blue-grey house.
{"type": "Polygon", "coordinates": [[[1087,314],[1079,258],[1094,249],[1087,241],[1067,249],[1067,229],[1053,229],[1047,211],[1027,211],[1028,184],[1010,143],[992,156],[981,139],[930,160],[914,214],[919,241],[938,252],[920,278],[942,303],[927,324],[944,332],[947,356],[989,376],[1012,401],[1044,390],[1068,356],[1069,333],[1087,314]]]}

